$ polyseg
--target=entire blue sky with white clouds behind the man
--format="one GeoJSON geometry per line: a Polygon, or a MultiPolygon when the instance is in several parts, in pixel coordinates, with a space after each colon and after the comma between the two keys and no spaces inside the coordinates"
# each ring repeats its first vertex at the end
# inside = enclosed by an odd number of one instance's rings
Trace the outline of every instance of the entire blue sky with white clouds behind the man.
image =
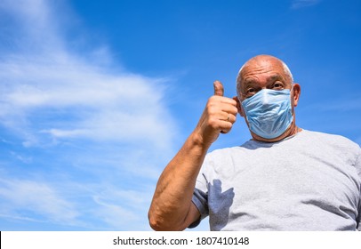
{"type": "MultiPolygon", "coordinates": [[[[361,144],[360,44],[360,1],[1,0],[0,230],[150,230],[213,81],[235,96],[260,53],[301,84],[299,126],[361,144]]],[[[211,150],[249,139],[238,116],[211,150]]]]}

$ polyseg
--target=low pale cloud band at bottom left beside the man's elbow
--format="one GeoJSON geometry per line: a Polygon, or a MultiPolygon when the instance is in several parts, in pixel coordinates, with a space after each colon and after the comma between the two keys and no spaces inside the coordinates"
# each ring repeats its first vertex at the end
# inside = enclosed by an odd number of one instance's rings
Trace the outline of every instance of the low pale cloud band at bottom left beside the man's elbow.
{"type": "Polygon", "coordinates": [[[111,182],[81,183],[66,178],[54,182],[53,175],[52,181],[15,179],[4,171],[2,175],[0,218],[35,222],[40,229],[41,224],[70,229],[150,229],[150,188],[119,189],[111,182]]]}

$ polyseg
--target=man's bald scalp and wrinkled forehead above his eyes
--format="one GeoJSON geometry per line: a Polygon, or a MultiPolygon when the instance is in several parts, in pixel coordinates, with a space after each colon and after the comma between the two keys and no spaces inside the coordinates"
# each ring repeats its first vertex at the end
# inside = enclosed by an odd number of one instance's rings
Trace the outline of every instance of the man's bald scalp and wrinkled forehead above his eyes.
{"type": "Polygon", "coordinates": [[[272,78],[279,78],[285,84],[293,84],[293,75],[284,61],[277,57],[261,54],[257,55],[240,68],[237,76],[237,94],[245,96],[245,84],[253,82],[263,82],[265,86],[272,78]],[[269,78],[265,78],[269,76],[269,78]]]}

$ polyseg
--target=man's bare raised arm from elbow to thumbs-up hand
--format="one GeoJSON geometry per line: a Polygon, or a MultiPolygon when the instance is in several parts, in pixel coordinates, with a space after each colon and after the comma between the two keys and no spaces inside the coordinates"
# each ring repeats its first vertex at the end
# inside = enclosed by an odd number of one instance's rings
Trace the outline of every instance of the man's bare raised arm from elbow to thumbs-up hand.
{"type": "Polygon", "coordinates": [[[221,82],[214,82],[214,94],[196,129],[156,184],[148,212],[149,224],[155,230],[183,230],[200,217],[192,203],[197,175],[212,143],[220,133],[229,133],[237,116],[237,102],[223,97],[221,82]]]}

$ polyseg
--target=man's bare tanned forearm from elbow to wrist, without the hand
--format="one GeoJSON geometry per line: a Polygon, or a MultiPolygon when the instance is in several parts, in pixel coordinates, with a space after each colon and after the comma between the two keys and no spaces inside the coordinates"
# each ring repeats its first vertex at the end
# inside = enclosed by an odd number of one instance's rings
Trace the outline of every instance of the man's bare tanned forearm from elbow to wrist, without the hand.
{"type": "Polygon", "coordinates": [[[197,133],[192,133],[165,167],[148,213],[153,229],[182,230],[188,227],[193,190],[208,148],[197,133]]]}

